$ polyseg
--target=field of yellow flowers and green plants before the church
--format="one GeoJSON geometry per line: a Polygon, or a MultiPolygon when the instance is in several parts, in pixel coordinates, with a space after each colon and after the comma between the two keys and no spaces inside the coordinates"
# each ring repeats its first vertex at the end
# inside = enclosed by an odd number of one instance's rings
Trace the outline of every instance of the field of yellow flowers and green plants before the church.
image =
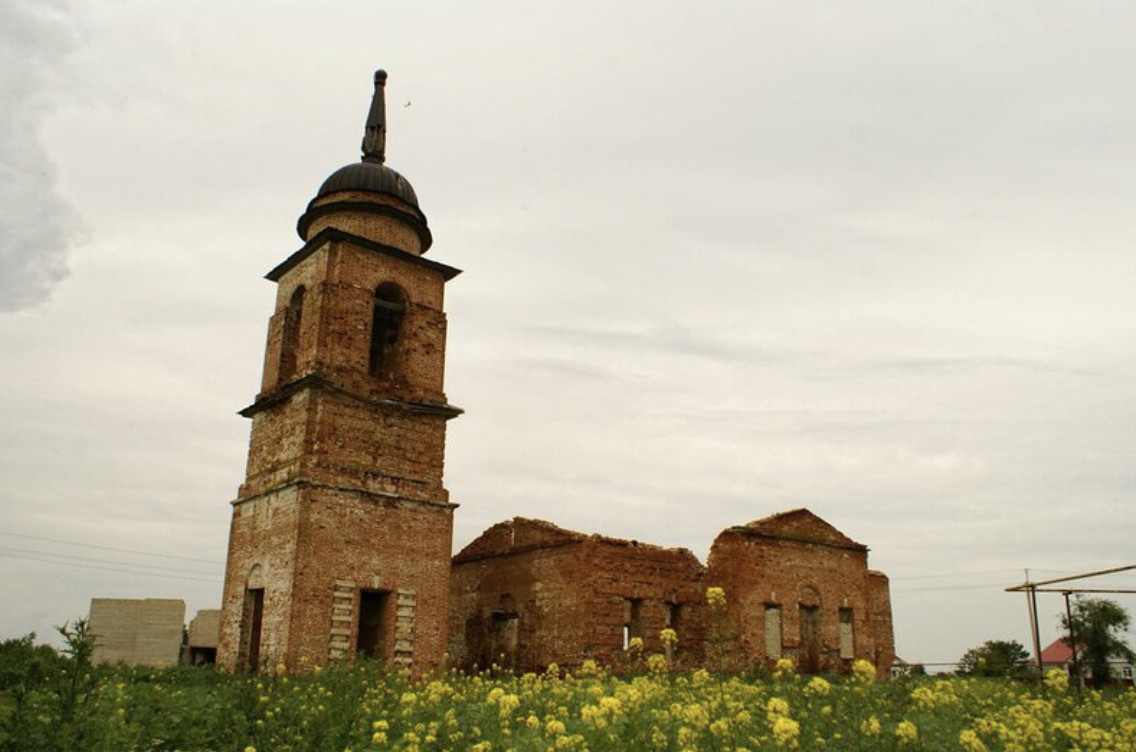
{"type": "Polygon", "coordinates": [[[864,665],[846,677],[780,666],[765,678],[651,665],[628,676],[587,663],[575,674],[450,672],[418,683],[375,665],[259,677],[115,669],[82,707],[73,749],[1136,752],[1131,690],[1078,693],[1056,679],[876,683],[864,665]]]}

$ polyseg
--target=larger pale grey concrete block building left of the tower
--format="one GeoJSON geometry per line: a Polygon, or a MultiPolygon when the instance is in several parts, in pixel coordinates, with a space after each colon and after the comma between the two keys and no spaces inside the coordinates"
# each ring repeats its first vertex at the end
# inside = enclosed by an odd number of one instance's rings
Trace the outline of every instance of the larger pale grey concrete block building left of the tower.
{"type": "Polygon", "coordinates": [[[185,629],[185,601],[91,599],[89,615],[95,663],[177,666],[185,629]]]}

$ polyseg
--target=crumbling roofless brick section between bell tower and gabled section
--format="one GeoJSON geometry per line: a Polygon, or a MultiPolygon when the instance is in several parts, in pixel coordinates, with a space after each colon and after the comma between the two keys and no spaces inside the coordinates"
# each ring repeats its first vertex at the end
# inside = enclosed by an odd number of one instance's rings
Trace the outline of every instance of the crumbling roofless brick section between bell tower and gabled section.
{"type": "MultiPolygon", "coordinates": [[[[517,518],[488,528],[453,560],[450,652],[463,667],[541,670],[623,660],[625,628],[662,652],[676,624],[679,655],[696,659],[702,566],[665,549],[517,518]],[[635,621],[632,624],[634,605],[635,621]]],[[[629,635],[628,635],[629,636],[629,635]]]]}

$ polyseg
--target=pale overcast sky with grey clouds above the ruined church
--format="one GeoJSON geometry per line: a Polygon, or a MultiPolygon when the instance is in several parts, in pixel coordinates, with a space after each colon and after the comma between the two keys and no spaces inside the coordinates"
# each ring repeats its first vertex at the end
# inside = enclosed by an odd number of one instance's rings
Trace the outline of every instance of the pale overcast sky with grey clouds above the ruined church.
{"type": "Polygon", "coordinates": [[[466,270],[456,548],[521,515],[704,561],[808,507],[892,577],[905,659],[1029,644],[1024,568],[1136,563],[1134,28],[1038,0],[6,0],[0,637],[219,602],[262,275],[384,67],[387,164],[466,270]]]}

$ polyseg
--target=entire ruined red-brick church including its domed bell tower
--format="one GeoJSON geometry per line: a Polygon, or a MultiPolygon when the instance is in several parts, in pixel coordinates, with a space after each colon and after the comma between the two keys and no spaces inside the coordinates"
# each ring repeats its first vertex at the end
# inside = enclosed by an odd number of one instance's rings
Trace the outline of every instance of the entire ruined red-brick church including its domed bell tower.
{"type": "Polygon", "coordinates": [[[385,161],[386,74],[362,159],[300,217],[277,284],[247,477],[232,502],[218,663],[365,655],[415,674],[616,661],[640,637],[679,665],[792,658],[804,671],[894,659],[887,577],[867,546],[797,509],[729,527],[705,566],[686,549],[517,518],[452,555],[442,484],[445,283],[410,183],[385,161]],[[726,605],[710,611],[705,592],[726,605]]]}

